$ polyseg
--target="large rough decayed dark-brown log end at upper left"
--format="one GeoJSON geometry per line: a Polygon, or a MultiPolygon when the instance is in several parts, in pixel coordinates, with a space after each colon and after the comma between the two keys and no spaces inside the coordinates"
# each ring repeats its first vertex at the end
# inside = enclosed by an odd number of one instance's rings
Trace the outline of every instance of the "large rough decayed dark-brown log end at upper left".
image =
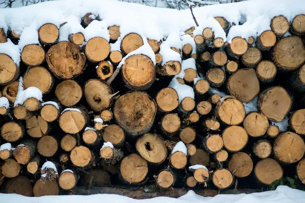
{"type": "Polygon", "coordinates": [[[57,78],[71,79],[84,71],[86,56],[76,44],[59,42],[48,50],[46,61],[57,78]]]}

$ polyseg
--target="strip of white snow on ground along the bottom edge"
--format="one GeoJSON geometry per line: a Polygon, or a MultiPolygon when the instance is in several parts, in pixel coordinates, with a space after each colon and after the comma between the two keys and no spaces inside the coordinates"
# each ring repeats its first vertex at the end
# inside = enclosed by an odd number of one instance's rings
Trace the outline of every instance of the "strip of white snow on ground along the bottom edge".
{"type": "Polygon", "coordinates": [[[189,191],[179,198],[155,197],[151,199],[135,200],[115,194],[95,194],[89,196],[43,196],[25,197],[17,194],[0,194],[0,203],[304,203],[305,192],[279,186],[276,190],[252,194],[220,194],[215,197],[202,197],[189,191]]]}

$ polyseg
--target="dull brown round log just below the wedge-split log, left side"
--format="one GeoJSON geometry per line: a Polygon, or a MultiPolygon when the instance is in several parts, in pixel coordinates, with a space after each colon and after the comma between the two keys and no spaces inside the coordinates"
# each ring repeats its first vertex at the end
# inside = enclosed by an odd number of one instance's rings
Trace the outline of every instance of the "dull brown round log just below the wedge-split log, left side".
{"type": "Polygon", "coordinates": [[[37,143],[37,152],[45,157],[53,156],[58,149],[58,142],[52,136],[44,136],[37,143]]]}

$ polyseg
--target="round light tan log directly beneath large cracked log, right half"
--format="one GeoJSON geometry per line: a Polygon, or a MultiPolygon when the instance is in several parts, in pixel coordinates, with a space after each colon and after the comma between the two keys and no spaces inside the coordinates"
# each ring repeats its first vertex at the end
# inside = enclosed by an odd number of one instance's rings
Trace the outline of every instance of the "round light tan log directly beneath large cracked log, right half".
{"type": "Polygon", "coordinates": [[[224,147],[229,152],[238,152],[242,150],[248,143],[248,134],[246,130],[240,126],[229,126],[222,133],[224,147]]]}

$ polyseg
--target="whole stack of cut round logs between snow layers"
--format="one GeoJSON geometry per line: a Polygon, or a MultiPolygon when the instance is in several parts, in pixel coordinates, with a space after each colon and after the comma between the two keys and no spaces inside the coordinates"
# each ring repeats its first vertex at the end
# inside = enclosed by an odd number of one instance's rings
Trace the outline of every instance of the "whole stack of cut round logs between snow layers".
{"type": "MultiPolygon", "coordinates": [[[[232,24],[215,19],[228,33],[232,24]]],[[[0,53],[2,191],[258,188],[295,168],[305,184],[304,19],[276,16],[257,38],[230,43],[192,27],[180,47],[116,25],[109,39],[86,41],[100,29],[93,13],[69,41],[58,42],[69,22],[44,24],[19,66],[0,53]]],[[[0,30],[1,43],[20,37],[0,30]]]]}

